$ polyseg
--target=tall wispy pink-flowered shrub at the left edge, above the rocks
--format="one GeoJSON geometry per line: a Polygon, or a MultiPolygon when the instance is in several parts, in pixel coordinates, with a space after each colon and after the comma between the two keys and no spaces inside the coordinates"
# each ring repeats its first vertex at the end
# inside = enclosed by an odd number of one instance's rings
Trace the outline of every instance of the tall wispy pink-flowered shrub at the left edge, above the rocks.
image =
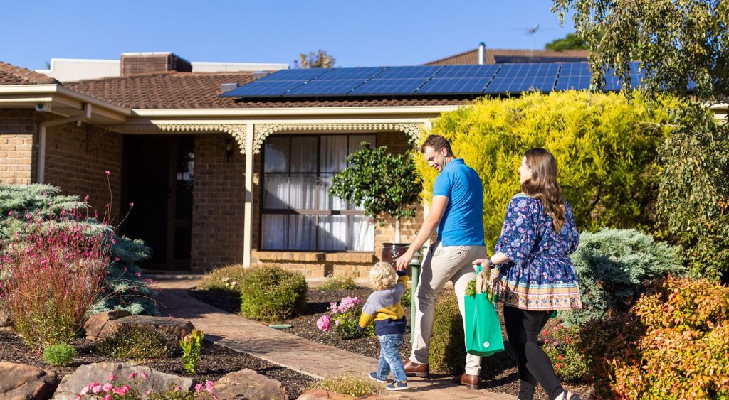
{"type": "Polygon", "coordinates": [[[3,246],[0,302],[38,351],[70,343],[102,293],[112,236],[93,233],[82,219],[77,210],[50,220],[26,212],[23,234],[3,246]]]}

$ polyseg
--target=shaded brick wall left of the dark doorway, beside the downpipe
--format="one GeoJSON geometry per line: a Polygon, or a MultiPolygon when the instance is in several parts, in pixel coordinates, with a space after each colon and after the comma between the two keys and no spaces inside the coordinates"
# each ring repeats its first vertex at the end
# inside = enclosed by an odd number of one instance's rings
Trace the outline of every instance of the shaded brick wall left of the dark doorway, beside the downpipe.
{"type": "Polygon", "coordinates": [[[82,199],[88,194],[89,204],[100,217],[112,196],[112,217],[118,223],[122,198],[122,135],[88,124],[48,127],[45,183],[82,199]],[[106,171],[111,172],[109,182],[106,171]]]}

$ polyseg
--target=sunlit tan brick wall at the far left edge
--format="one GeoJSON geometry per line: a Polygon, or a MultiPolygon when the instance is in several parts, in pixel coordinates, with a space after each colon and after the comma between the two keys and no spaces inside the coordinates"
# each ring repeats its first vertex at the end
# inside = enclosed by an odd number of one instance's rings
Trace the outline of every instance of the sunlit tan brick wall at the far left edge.
{"type": "Polygon", "coordinates": [[[0,108],[0,183],[29,185],[36,179],[34,110],[0,108]]]}

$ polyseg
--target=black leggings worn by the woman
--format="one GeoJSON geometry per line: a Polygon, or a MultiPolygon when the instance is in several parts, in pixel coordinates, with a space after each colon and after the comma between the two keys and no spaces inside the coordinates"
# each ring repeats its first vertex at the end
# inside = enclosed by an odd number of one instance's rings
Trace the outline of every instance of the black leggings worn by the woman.
{"type": "Polygon", "coordinates": [[[537,343],[539,331],[549,320],[550,311],[527,311],[504,305],[504,325],[511,347],[516,351],[519,367],[519,400],[534,398],[537,382],[550,399],[563,391],[552,362],[537,343]]]}

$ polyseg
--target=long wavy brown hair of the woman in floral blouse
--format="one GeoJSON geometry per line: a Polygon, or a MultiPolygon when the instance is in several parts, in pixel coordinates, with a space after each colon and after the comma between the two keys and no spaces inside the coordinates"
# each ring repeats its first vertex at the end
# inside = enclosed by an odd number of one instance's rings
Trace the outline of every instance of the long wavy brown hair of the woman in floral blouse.
{"type": "Polygon", "coordinates": [[[542,201],[555,233],[559,233],[564,225],[564,196],[557,182],[557,161],[545,148],[531,148],[524,157],[531,179],[521,184],[521,191],[542,201]]]}

